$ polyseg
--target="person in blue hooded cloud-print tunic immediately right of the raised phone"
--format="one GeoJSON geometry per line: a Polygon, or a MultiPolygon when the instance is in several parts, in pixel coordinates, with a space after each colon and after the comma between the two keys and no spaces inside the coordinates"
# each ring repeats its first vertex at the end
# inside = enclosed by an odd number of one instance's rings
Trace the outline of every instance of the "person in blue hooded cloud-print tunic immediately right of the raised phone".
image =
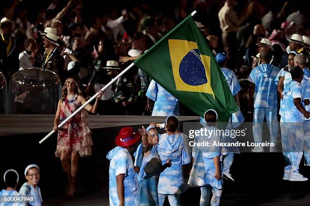
{"type": "Polygon", "coordinates": [[[171,206],[181,205],[180,194],[185,191],[182,164],[190,162],[190,154],[186,148],[184,137],[176,132],[178,128],[176,116],[168,116],[166,119],[166,133],[159,137],[159,143],[155,149],[162,160],[171,159],[171,167],[164,170],[158,183],[159,205],[164,204],[166,196],[171,206]]]}

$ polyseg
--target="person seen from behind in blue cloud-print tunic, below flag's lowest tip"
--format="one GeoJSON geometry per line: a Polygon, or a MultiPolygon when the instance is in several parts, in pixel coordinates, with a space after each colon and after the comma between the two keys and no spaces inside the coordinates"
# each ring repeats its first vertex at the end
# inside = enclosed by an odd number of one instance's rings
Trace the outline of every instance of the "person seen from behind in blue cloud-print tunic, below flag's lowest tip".
{"type": "MultiPolygon", "coordinates": [[[[217,113],[213,109],[205,112],[207,130],[217,130],[217,113]]],[[[200,206],[209,205],[212,191],[211,206],[218,206],[222,194],[222,178],[220,168],[221,148],[212,146],[214,142],[220,142],[221,136],[213,133],[212,136],[195,136],[192,149],[192,169],[190,171],[188,184],[199,186],[201,189],[200,206]],[[211,146],[197,146],[195,143],[207,141],[211,146]]]]}

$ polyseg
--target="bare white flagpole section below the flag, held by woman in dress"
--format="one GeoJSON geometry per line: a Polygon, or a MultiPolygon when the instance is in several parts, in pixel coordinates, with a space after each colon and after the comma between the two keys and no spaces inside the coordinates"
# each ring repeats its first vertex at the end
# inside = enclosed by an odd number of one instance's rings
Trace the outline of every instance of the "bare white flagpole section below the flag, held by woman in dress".
{"type": "MultiPolygon", "coordinates": [[[[114,81],[116,81],[118,78],[120,78],[126,71],[128,71],[131,67],[134,66],[134,63],[131,63],[126,69],[124,69],[119,75],[115,76],[106,86],[104,86],[101,91],[104,91],[106,88],[108,88],[114,81]]],[[[88,105],[93,99],[95,99],[99,94],[96,93],[94,96],[92,96],[87,102],[85,102],[80,108],[78,108],[75,112],[73,112],[70,116],[68,116],[64,121],[62,121],[58,128],[61,128],[64,123],[66,123],[70,118],[72,118],[76,113],[81,111],[86,105],[88,105]]],[[[52,130],[47,136],[45,136],[39,143],[42,144],[47,138],[49,138],[51,135],[55,133],[54,130],[52,130]]]]}

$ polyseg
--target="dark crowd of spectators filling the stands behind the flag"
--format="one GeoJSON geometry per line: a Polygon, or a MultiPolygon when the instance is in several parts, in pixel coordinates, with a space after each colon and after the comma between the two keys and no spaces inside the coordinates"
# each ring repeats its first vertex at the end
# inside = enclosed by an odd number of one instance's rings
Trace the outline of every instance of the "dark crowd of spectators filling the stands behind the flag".
{"type": "MultiPolygon", "coordinates": [[[[86,19],[89,14],[83,10],[83,1],[71,0],[61,8],[55,0],[35,14],[27,13],[25,2],[13,1],[2,11],[0,71],[7,84],[15,72],[28,67],[55,72],[62,85],[67,77],[76,75],[83,95],[90,97],[189,11],[197,10],[194,18],[213,54],[225,52],[226,67],[235,71],[241,83],[238,97],[241,111],[247,114],[252,111],[248,106],[252,101],[250,83],[245,79],[251,67],[261,62],[256,44],[264,39],[260,45],[270,48],[272,64],[279,70],[288,64],[291,51],[308,59],[309,17],[307,8],[298,1],[283,5],[269,1],[223,3],[183,0],[174,5],[173,12],[154,11],[151,4],[139,3],[128,10],[111,9],[86,19]]],[[[175,115],[193,114],[135,66],[106,89],[97,114],[167,115],[170,111],[164,111],[166,106],[173,107],[175,115]],[[106,107],[111,109],[103,109],[106,107]]]]}

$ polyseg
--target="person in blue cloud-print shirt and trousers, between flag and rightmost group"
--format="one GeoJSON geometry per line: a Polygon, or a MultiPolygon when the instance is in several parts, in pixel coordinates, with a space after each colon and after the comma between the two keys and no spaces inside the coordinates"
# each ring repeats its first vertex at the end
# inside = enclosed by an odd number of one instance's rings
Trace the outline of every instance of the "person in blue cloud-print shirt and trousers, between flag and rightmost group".
{"type": "MultiPolygon", "coordinates": [[[[262,122],[266,117],[267,126],[270,131],[270,142],[276,145],[278,135],[277,119],[277,86],[274,83],[279,68],[271,64],[272,54],[267,50],[260,50],[261,64],[255,67],[248,78],[252,83],[249,92],[249,106],[253,104],[252,95],[254,93],[254,117],[253,136],[255,143],[262,142],[262,122]]],[[[276,147],[271,147],[273,151],[276,147]]],[[[252,151],[263,152],[263,148],[258,146],[252,151]]]]}

